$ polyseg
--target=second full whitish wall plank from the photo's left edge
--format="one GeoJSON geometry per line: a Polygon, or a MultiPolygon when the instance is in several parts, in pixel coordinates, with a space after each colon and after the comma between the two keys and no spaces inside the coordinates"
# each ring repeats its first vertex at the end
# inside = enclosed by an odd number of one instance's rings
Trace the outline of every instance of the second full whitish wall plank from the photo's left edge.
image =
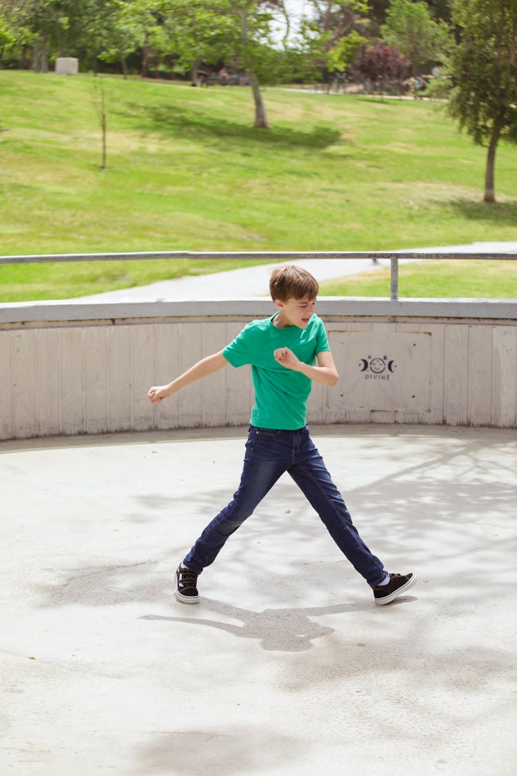
{"type": "Polygon", "coordinates": [[[61,430],[60,331],[36,331],[36,427],[38,436],[61,430]]]}

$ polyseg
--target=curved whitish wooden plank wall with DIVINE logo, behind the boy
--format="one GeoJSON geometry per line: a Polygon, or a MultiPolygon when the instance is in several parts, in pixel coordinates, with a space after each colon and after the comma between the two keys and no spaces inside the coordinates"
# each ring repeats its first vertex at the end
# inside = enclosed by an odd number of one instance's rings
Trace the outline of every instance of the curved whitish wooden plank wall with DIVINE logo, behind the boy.
{"type": "MultiPolygon", "coordinates": [[[[244,320],[0,324],[0,438],[246,424],[246,367],[155,407],[146,400],[151,385],[220,350],[244,320]]],[[[309,422],[517,427],[515,320],[333,315],[327,328],[340,379],[314,386],[309,422]]]]}

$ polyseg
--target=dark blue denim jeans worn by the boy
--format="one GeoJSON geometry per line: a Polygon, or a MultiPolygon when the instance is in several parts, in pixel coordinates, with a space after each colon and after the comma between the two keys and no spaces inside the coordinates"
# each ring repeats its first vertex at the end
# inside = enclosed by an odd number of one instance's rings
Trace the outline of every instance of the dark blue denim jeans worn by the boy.
{"type": "Polygon", "coordinates": [[[381,583],[386,575],[384,566],[360,538],[308,426],[297,431],[250,426],[239,489],[202,532],[185,557],[185,566],[200,574],[213,563],[226,539],[253,514],[284,472],[295,480],[336,545],[367,583],[371,587],[381,583]]]}

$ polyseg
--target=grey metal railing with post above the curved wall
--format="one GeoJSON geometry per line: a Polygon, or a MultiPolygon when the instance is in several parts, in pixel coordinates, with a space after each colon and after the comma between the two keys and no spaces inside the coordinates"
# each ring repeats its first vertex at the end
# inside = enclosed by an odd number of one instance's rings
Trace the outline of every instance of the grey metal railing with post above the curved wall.
{"type": "Polygon", "coordinates": [[[420,253],[410,251],[158,251],[136,253],[82,253],[47,254],[28,256],[0,256],[0,266],[7,264],[47,264],[61,262],[129,262],[151,261],[157,258],[190,259],[247,259],[258,262],[297,261],[299,259],[384,259],[389,260],[391,269],[390,298],[398,300],[398,262],[399,259],[419,261],[424,259],[476,259],[478,261],[517,261],[517,254],[511,253],[420,253]]]}

